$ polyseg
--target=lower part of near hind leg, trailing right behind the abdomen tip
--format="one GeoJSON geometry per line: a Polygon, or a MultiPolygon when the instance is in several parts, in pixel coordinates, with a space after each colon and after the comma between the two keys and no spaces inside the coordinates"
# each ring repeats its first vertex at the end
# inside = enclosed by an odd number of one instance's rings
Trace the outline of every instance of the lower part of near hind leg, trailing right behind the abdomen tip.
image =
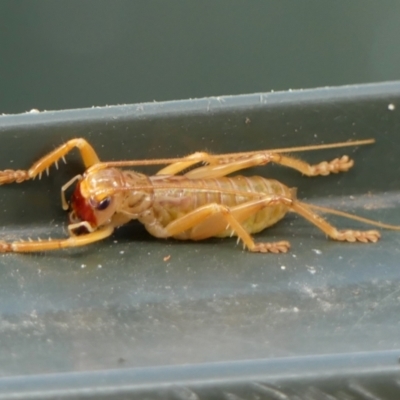
{"type": "Polygon", "coordinates": [[[351,229],[338,230],[334,226],[330,225],[325,219],[320,217],[318,214],[313,212],[307,204],[301,203],[300,201],[293,200],[291,210],[297,212],[302,217],[316,225],[321,231],[327,236],[334,240],[347,241],[347,242],[377,242],[381,237],[380,233],[376,230],[369,231],[356,231],[351,229]]]}

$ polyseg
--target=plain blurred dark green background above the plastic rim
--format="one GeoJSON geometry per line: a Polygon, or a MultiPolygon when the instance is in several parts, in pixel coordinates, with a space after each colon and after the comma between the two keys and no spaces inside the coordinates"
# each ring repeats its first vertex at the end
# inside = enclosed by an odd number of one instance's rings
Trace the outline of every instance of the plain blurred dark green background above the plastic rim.
{"type": "Polygon", "coordinates": [[[0,2],[0,113],[400,78],[397,1],[0,2]]]}

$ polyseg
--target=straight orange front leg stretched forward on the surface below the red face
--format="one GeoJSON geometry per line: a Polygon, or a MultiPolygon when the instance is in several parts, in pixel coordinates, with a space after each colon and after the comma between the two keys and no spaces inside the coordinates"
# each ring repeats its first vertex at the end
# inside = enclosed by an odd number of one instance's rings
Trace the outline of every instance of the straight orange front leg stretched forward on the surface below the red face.
{"type": "Polygon", "coordinates": [[[38,251],[58,250],[67,247],[86,246],[110,236],[113,226],[106,226],[97,231],[81,236],[71,236],[67,239],[35,240],[7,243],[0,240],[0,253],[32,253],[38,251]]]}

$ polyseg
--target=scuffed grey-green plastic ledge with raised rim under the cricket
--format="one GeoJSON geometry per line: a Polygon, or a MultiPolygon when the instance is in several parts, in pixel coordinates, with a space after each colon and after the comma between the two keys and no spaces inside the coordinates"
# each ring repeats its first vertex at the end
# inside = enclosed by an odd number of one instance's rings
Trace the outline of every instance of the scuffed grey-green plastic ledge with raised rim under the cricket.
{"type": "MultiPolygon", "coordinates": [[[[374,145],[299,154],[348,154],[348,173],[247,174],[400,224],[399,82],[5,115],[0,170],[28,168],[74,137],[102,160],[372,137],[374,145]]],[[[74,152],[49,177],[0,187],[1,239],[65,236],[60,187],[81,171],[74,152]]],[[[292,248],[251,254],[235,239],[165,241],[132,223],[85,248],[1,255],[0,398],[398,398],[400,232],[338,243],[291,214],[256,239],[292,248]]]]}

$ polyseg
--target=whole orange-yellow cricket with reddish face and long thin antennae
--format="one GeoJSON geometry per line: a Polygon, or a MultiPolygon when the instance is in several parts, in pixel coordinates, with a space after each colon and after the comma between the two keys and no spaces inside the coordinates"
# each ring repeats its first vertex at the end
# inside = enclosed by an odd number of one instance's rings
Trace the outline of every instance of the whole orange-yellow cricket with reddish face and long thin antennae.
{"type": "Polygon", "coordinates": [[[342,211],[302,202],[296,189],[261,176],[231,174],[269,163],[280,164],[314,177],[348,171],[354,161],[344,155],[332,161],[310,165],[291,155],[299,151],[374,143],[374,139],[258,150],[230,154],[196,152],[186,157],[101,162],[93,147],[82,138],[67,141],[54,149],[28,170],[0,171],[0,185],[22,183],[49,174],[58,168],[60,159],[78,149],[85,171],[61,187],[61,202],[69,212],[69,236],[63,239],[37,239],[6,242],[0,240],[0,253],[42,252],[86,246],[111,236],[116,228],[130,220],[138,220],[157,238],[203,240],[211,237],[236,236],[237,242],[250,252],[285,253],[288,241],[255,242],[252,234],[295,212],[314,224],[333,240],[375,243],[377,230],[339,230],[320,214],[335,214],[380,228],[400,230],[342,211]],[[290,155],[289,155],[290,154],[290,155]],[[166,165],[148,176],[130,168],[166,165]],[[72,197],[66,191],[75,185],[72,197]]]}

